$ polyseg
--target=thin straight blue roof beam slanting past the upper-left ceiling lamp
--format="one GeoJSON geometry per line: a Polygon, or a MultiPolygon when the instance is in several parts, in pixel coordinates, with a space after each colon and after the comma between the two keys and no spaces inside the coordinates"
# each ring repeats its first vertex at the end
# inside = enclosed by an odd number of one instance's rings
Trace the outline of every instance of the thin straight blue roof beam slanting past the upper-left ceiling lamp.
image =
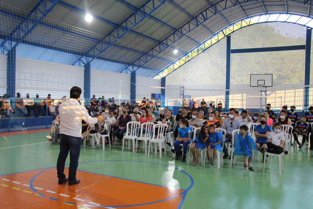
{"type": "MultiPolygon", "coordinates": [[[[70,4],[68,4],[68,3],[65,3],[65,2],[63,2],[63,1],[59,1],[59,4],[65,6],[65,7],[67,7],[67,8],[73,9],[73,10],[76,11],[76,12],[84,13],[84,14],[86,13],[85,10],[80,9],[80,8],[78,8],[78,7],[76,7],[76,6],[70,5],[70,4]]],[[[127,28],[125,28],[125,27],[123,27],[123,26],[119,26],[119,25],[117,25],[117,24],[113,23],[112,21],[107,20],[107,19],[105,19],[105,18],[102,18],[102,17],[97,16],[97,15],[92,15],[92,16],[93,16],[94,18],[100,20],[100,21],[103,21],[103,22],[105,22],[105,23],[107,23],[107,24],[112,25],[113,28],[114,28],[114,27],[121,27],[121,30],[127,30],[127,28]]],[[[146,35],[144,35],[144,34],[138,33],[138,32],[136,32],[136,31],[134,31],[134,30],[130,30],[130,32],[133,33],[133,34],[139,35],[139,36],[141,36],[141,37],[144,37],[144,38],[146,38],[146,39],[149,39],[149,40],[151,40],[151,41],[153,41],[153,42],[156,42],[156,43],[159,42],[158,40],[156,40],[156,39],[154,39],[154,38],[151,38],[151,37],[146,36],[146,35]]],[[[172,49],[175,49],[175,48],[172,47],[172,49]]],[[[178,51],[179,51],[180,53],[182,53],[182,54],[185,54],[185,53],[186,53],[186,52],[181,51],[181,50],[178,50],[178,51]]]]}

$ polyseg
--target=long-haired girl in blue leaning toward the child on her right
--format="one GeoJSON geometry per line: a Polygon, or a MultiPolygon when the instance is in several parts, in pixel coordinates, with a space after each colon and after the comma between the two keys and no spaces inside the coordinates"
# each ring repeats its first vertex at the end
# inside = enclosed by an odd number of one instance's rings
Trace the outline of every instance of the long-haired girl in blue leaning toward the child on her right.
{"type": "Polygon", "coordinates": [[[192,164],[198,164],[199,152],[200,149],[203,150],[207,144],[207,140],[209,138],[209,128],[206,125],[203,125],[200,129],[199,134],[196,136],[195,140],[191,144],[190,150],[193,156],[192,164]],[[196,154],[195,149],[196,148],[196,154]]]}

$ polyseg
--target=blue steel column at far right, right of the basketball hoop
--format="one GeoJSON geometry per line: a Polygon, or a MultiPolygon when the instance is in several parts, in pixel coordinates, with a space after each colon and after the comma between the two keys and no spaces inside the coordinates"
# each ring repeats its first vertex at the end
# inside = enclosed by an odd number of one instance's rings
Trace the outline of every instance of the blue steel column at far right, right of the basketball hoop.
{"type": "Polygon", "coordinates": [[[310,62],[311,62],[311,40],[312,29],[306,29],[305,42],[305,77],[304,77],[304,110],[309,108],[310,102],[310,62]]]}

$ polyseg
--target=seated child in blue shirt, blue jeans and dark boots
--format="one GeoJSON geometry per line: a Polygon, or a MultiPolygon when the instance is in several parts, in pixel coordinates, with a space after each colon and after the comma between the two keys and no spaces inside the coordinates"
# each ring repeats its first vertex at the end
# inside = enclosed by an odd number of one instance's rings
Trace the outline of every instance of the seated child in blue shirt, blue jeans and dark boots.
{"type": "Polygon", "coordinates": [[[179,121],[178,136],[174,142],[174,148],[176,152],[175,160],[178,160],[182,156],[182,162],[186,162],[186,153],[188,145],[190,144],[191,128],[189,128],[189,123],[186,119],[181,119],[179,121]],[[181,152],[181,146],[183,144],[183,155],[181,152]]]}

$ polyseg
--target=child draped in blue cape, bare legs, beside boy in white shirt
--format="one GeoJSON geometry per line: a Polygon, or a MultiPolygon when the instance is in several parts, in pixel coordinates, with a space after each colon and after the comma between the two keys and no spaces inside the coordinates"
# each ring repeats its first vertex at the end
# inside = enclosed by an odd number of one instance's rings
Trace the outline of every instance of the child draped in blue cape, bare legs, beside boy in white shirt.
{"type": "Polygon", "coordinates": [[[244,167],[247,167],[246,163],[246,156],[248,158],[248,166],[249,170],[254,171],[254,169],[250,166],[250,162],[252,159],[252,149],[258,150],[256,147],[253,138],[248,135],[248,126],[242,125],[240,126],[240,132],[236,135],[235,140],[235,155],[244,155],[244,167]]]}

